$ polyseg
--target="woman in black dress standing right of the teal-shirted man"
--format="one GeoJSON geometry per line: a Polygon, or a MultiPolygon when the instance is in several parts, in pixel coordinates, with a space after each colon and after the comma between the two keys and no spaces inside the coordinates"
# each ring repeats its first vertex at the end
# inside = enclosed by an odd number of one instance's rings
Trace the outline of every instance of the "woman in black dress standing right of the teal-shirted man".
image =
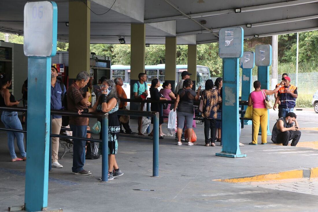
{"type": "MultiPolygon", "coordinates": [[[[168,100],[159,93],[158,87],[160,87],[160,82],[158,79],[153,79],[151,80],[151,86],[150,86],[150,99],[151,100],[168,100]]],[[[162,136],[160,136],[161,131],[161,125],[163,123],[163,118],[162,118],[162,104],[160,103],[151,103],[150,106],[151,111],[159,112],[159,139],[163,139],[162,136]]],[[[151,123],[153,124],[153,118],[151,118],[151,123]]],[[[149,133],[149,136],[153,136],[154,129],[152,129],[151,133],[149,133]]]]}

